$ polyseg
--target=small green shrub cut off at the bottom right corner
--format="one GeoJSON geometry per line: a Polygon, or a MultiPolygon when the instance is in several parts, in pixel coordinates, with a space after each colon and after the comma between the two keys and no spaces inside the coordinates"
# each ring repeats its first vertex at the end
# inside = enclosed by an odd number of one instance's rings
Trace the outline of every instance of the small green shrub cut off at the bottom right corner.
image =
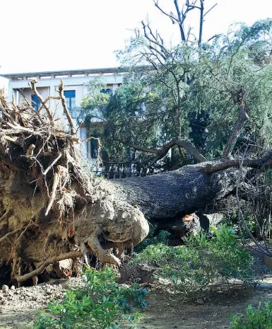
{"type": "Polygon", "coordinates": [[[257,308],[252,305],[247,307],[244,317],[232,316],[230,329],[271,329],[272,304],[266,302],[264,306],[259,303],[257,308]]]}

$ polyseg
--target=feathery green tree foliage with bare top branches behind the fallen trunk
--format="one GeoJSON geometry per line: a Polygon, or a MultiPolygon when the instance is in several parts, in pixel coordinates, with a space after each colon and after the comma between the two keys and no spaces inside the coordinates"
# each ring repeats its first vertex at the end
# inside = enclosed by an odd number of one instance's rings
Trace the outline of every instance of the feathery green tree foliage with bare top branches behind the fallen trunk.
{"type": "Polygon", "coordinates": [[[146,168],[163,159],[167,168],[178,168],[203,160],[189,142],[207,158],[229,156],[246,141],[266,147],[272,99],[271,20],[233,26],[227,35],[203,42],[203,1],[186,1],[182,9],[175,1],[176,16],[166,13],[158,1],[155,6],[178,25],[179,45],[167,45],[170,42],[142,22],[143,30],[136,30],[118,53],[131,68],[123,86],[106,102],[105,96],[94,94],[83,101],[89,122],[97,116],[95,106],[100,108],[102,144],[110,158],[138,161],[146,168]],[[191,28],[184,30],[193,10],[201,13],[197,37],[191,28]],[[102,102],[97,99],[101,97],[102,102]]]}

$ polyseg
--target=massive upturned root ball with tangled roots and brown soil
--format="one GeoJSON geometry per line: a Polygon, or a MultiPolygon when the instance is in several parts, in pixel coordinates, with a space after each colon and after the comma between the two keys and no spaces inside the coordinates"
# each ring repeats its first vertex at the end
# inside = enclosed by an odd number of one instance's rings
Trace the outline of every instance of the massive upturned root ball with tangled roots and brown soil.
{"type": "Polygon", "coordinates": [[[40,98],[37,112],[27,100],[18,108],[0,96],[0,264],[6,280],[45,275],[48,265],[68,258],[84,255],[88,261],[88,253],[119,265],[122,251],[147,236],[148,222],[138,208],[119,200],[114,184],[81,166],[81,141],[63,84],[59,98],[71,134],[54,121],[35,83],[30,87],[40,98]],[[113,247],[116,255],[107,251],[113,247]]]}

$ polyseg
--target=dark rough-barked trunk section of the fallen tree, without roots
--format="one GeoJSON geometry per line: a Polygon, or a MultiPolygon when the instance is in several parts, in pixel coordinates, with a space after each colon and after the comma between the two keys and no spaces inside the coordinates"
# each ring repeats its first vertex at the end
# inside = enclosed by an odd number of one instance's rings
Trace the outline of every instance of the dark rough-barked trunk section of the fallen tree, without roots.
{"type": "Polygon", "coordinates": [[[136,204],[149,218],[160,220],[190,214],[235,189],[238,169],[228,168],[209,175],[203,169],[211,163],[215,161],[157,175],[125,178],[115,181],[114,185],[123,200],[136,204]]]}

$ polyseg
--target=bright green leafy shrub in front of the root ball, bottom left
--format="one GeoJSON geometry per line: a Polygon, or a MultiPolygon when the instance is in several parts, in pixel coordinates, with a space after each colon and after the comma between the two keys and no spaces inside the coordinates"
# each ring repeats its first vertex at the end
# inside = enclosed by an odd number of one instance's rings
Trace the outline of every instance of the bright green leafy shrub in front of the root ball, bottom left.
{"type": "Polygon", "coordinates": [[[86,287],[83,290],[66,290],[61,303],[52,301],[47,311],[40,311],[35,329],[114,329],[124,323],[138,322],[135,307],[146,306],[147,292],[117,284],[110,268],[85,271],[86,287]]]}

